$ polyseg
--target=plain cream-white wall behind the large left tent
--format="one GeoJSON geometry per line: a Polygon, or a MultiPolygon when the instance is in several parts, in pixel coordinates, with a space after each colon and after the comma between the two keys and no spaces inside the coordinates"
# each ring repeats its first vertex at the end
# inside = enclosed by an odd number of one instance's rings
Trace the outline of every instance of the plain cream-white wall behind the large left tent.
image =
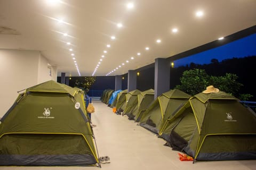
{"type": "Polygon", "coordinates": [[[2,117],[18,97],[17,91],[44,81],[56,81],[57,77],[50,77],[48,62],[39,51],[0,49],[0,79],[2,117]]]}

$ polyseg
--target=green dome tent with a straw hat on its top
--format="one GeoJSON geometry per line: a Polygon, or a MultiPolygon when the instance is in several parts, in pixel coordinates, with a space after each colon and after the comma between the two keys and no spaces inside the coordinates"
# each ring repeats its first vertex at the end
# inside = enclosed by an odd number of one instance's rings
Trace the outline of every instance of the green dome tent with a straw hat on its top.
{"type": "Polygon", "coordinates": [[[194,161],[256,159],[255,113],[223,91],[191,97],[167,120],[164,134],[194,161]]]}

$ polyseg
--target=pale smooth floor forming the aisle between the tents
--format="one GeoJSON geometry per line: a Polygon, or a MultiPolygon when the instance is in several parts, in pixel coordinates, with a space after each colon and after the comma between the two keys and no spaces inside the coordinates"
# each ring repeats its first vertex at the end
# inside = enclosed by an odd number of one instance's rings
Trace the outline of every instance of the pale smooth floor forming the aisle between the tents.
{"type": "Polygon", "coordinates": [[[154,133],[138,126],[127,117],[116,115],[112,108],[101,101],[93,101],[95,113],[92,122],[99,156],[109,156],[110,163],[100,167],[83,166],[0,166],[1,170],[15,169],[90,169],[90,170],[246,170],[256,169],[256,160],[232,160],[218,162],[181,162],[178,152],[163,146],[165,141],[154,133]]]}

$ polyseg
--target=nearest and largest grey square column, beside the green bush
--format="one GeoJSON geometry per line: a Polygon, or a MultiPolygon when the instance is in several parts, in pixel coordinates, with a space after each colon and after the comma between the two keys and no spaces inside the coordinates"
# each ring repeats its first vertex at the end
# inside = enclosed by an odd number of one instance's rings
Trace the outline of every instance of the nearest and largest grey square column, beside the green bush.
{"type": "Polygon", "coordinates": [[[170,61],[166,58],[155,60],[155,99],[170,90],[170,61]]]}

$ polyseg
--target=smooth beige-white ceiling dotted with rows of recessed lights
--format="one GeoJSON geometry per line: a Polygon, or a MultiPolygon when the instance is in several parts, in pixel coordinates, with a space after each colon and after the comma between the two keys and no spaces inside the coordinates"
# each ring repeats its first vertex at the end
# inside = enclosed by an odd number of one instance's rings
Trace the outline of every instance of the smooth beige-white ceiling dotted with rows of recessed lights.
{"type": "Polygon", "coordinates": [[[121,75],[255,23],[255,0],[0,0],[0,49],[39,50],[58,75],[121,75]]]}

